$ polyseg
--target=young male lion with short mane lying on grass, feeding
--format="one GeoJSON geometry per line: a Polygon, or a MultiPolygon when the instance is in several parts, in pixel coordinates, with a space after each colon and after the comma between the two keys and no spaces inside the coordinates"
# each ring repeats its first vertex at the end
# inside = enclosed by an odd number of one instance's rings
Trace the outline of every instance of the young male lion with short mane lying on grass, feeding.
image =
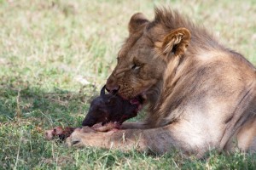
{"type": "Polygon", "coordinates": [[[67,144],[202,156],[237,139],[241,150],[256,149],[256,69],[247,59],[165,8],[153,21],[134,14],[129,32],[106,86],[124,99],[143,97],[147,119],[107,133],[83,127],[67,144]]]}

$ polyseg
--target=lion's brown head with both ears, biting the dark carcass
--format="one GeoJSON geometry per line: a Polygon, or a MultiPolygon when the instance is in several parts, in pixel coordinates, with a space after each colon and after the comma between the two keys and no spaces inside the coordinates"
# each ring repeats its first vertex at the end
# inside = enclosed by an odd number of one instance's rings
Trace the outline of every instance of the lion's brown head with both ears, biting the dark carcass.
{"type": "Polygon", "coordinates": [[[118,63],[106,87],[118,91],[124,99],[147,96],[163,83],[168,63],[184,53],[190,40],[183,27],[163,31],[155,20],[149,22],[141,13],[132,15],[129,37],[119,50],[118,63]]]}

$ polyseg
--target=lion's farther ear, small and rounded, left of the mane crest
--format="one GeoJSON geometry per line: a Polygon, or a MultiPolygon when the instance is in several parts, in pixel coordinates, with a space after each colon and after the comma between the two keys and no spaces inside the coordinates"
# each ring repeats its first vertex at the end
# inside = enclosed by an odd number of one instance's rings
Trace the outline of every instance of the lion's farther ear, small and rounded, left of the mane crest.
{"type": "Polygon", "coordinates": [[[133,14],[129,22],[129,32],[134,33],[144,26],[145,23],[148,23],[147,18],[142,13],[133,14]]]}

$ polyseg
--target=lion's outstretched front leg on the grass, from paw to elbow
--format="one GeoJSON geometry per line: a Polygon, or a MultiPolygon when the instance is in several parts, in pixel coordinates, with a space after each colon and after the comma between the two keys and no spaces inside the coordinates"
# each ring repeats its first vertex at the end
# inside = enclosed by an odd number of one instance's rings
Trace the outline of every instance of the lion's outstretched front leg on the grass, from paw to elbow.
{"type": "MultiPolygon", "coordinates": [[[[193,133],[193,131],[191,131],[193,133]]],[[[168,125],[166,127],[150,129],[125,129],[112,130],[107,133],[101,133],[91,130],[90,127],[83,127],[75,130],[67,139],[69,146],[92,146],[106,149],[117,150],[151,150],[155,153],[163,154],[170,151],[173,147],[183,150],[186,154],[195,154],[201,156],[206,150],[204,145],[198,144],[201,137],[191,135],[195,140],[189,137],[179,136],[178,127],[168,125]]],[[[187,135],[187,134],[186,134],[187,135]]]]}

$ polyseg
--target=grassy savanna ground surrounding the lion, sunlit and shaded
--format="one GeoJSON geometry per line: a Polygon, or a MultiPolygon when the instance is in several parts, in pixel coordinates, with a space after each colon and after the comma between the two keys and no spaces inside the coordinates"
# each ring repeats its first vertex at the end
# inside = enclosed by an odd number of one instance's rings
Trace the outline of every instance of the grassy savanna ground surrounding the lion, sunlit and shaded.
{"type": "Polygon", "coordinates": [[[131,14],[152,20],[155,5],[177,8],[256,64],[255,0],[0,0],[0,169],[256,168],[256,155],[239,151],[196,160],[44,139],[44,129],[80,126],[116,64],[131,14]]]}

